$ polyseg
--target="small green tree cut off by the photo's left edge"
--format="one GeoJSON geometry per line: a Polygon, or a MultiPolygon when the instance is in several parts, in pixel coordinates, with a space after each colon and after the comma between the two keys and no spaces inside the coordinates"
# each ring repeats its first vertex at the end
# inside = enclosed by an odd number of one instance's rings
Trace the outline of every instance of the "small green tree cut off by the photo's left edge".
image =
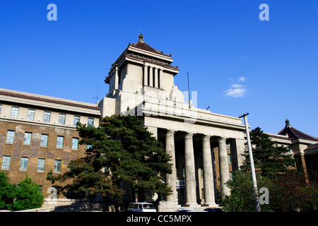
{"type": "Polygon", "coordinates": [[[0,171],[0,210],[10,210],[16,195],[16,185],[10,183],[5,172],[0,171]]]}

